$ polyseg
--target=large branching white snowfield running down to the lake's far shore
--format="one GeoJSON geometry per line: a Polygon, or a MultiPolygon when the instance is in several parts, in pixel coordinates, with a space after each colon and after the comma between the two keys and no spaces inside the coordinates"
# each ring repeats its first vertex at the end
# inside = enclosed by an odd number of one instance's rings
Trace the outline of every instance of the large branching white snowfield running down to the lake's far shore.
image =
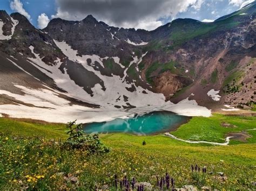
{"type": "MultiPolygon", "coordinates": [[[[60,93],[58,90],[54,90],[48,86],[45,86],[45,89],[31,89],[29,87],[20,86],[19,84],[14,84],[16,88],[24,93],[23,95],[13,94],[5,90],[0,90],[0,95],[8,95],[19,102],[23,102],[23,104],[2,104],[0,105],[0,114],[7,114],[14,118],[32,118],[56,123],[66,123],[75,119],[77,119],[79,123],[104,122],[111,121],[115,118],[132,117],[135,114],[144,115],[147,112],[159,110],[172,111],[178,115],[184,116],[209,117],[211,115],[211,110],[199,106],[196,101],[190,100],[189,97],[177,104],[173,104],[170,101],[166,102],[163,94],[156,94],[140,86],[135,86],[134,82],[128,83],[125,80],[127,69],[124,71],[124,77],[102,75],[98,70],[95,70],[92,65],[97,61],[104,67],[103,60],[106,58],[100,58],[98,55],[79,56],[77,51],[72,49],[65,41],[58,42],[55,40],[55,44],[69,60],[75,62],[74,64],[79,63],[86,70],[97,75],[99,79],[104,82],[105,90],[103,90],[102,85],[97,83],[91,88],[93,91],[93,96],[91,96],[86,93],[83,87],[78,86],[71,80],[65,68],[64,73],[60,71],[59,67],[62,62],[59,58],[55,60],[52,66],[46,65],[42,61],[43,58],[34,52],[34,47],[30,46],[30,51],[35,58],[27,58],[27,60],[42,73],[51,77],[56,85],[65,90],[66,93],[60,93]],[[87,64],[87,59],[91,59],[92,65],[87,64]],[[130,88],[132,85],[136,87],[136,91],[131,92],[126,89],[130,88]],[[143,91],[146,91],[146,94],[143,93],[143,91]],[[72,104],[70,101],[61,98],[59,96],[60,94],[76,98],[86,103],[100,105],[100,108],[89,108],[72,104]],[[124,97],[127,97],[127,100],[124,97]],[[136,108],[123,109],[121,106],[127,106],[126,103],[134,105],[136,108]],[[114,107],[116,105],[119,105],[122,109],[114,107]]],[[[138,63],[142,61],[145,54],[143,54],[141,58],[134,56],[133,60],[130,62],[130,66],[132,64],[138,66],[138,63]]],[[[118,57],[114,57],[113,60],[117,65],[122,66],[119,63],[120,59],[118,57]]],[[[29,74],[18,66],[18,60],[9,61],[23,72],[29,74]]],[[[35,79],[37,78],[35,77],[35,79]]]]}

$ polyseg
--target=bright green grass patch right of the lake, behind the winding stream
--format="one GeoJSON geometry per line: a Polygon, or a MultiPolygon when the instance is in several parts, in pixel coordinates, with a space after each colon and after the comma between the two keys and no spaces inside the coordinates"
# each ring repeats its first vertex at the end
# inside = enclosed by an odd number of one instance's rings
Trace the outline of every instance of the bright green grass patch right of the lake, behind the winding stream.
{"type": "MultiPolygon", "coordinates": [[[[214,114],[212,117],[193,117],[189,123],[181,125],[172,132],[173,135],[189,140],[205,140],[208,142],[224,143],[224,138],[230,132],[242,132],[255,128],[255,117],[225,116],[214,114]]],[[[251,138],[247,143],[256,143],[255,131],[246,131],[251,138]]],[[[231,141],[236,144],[237,141],[231,141]]]]}

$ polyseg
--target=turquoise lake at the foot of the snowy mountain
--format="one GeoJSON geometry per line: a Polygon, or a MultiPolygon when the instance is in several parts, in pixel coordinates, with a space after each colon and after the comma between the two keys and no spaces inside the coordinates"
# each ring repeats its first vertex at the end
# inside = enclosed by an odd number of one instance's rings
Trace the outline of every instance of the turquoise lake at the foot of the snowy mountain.
{"type": "Polygon", "coordinates": [[[176,130],[190,117],[176,115],[173,112],[154,111],[143,116],[127,119],[114,119],[109,122],[85,124],[86,133],[131,133],[135,135],[156,135],[176,130]]]}

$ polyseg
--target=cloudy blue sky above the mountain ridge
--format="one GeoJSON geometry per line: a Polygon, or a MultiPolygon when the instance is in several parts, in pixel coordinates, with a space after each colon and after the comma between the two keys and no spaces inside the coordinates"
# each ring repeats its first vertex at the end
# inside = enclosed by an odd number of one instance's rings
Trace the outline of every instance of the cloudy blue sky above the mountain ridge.
{"type": "Polygon", "coordinates": [[[38,29],[53,18],[83,20],[93,15],[110,26],[153,30],[176,18],[203,22],[240,9],[254,0],[0,0],[0,10],[19,12],[38,29]]]}

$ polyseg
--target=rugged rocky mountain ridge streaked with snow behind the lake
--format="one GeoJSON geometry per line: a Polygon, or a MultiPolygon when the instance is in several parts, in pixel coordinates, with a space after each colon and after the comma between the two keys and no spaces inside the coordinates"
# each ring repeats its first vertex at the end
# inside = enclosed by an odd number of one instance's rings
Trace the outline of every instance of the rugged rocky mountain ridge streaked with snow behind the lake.
{"type": "Polygon", "coordinates": [[[166,107],[184,114],[173,103],[187,97],[208,109],[250,107],[255,41],[255,2],[212,23],[176,19],[153,31],[91,15],[52,19],[38,30],[21,14],[0,11],[0,115],[91,122],[166,107]]]}

